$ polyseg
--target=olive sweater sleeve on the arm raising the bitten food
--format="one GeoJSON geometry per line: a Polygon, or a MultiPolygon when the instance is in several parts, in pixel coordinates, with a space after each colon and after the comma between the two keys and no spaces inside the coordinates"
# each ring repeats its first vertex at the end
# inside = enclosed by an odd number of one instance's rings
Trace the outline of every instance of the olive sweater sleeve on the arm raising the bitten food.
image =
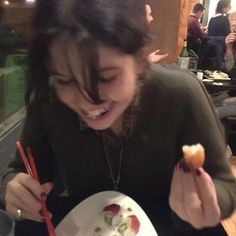
{"type": "Polygon", "coordinates": [[[179,97],[182,110],[179,116],[178,148],[184,144],[196,143],[205,147],[203,168],[213,179],[221,215],[226,218],[236,207],[236,181],[226,159],[221,123],[204,85],[194,76],[185,75],[179,97]]]}

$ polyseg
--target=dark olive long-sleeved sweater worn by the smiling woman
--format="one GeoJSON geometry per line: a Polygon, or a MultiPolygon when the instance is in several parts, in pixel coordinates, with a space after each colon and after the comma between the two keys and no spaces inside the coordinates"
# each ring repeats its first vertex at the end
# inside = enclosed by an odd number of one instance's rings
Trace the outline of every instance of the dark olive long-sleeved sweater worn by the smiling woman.
{"type": "MultiPolygon", "coordinates": [[[[223,132],[204,86],[187,71],[161,65],[152,65],[143,79],[135,126],[125,141],[118,191],[137,201],[159,236],[224,235],[220,226],[194,229],[180,220],[168,203],[182,146],[201,143],[206,150],[204,169],[214,181],[222,217],[229,216],[236,206],[236,181],[225,158],[223,132]]],[[[51,99],[38,109],[38,113],[28,112],[21,140],[32,148],[41,182],[55,184],[48,204],[57,225],[76,204],[113,189],[98,135],[108,130],[81,129],[78,115],[53,91],[51,99]]],[[[109,153],[113,162],[117,152],[109,153]]],[[[9,179],[22,171],[25,168],[17,153],[1,176],[3,195],[9,179]]],[[[24,229],[17,236],[36,236],[41,227],[45,230],[44,224],[31,225],[30,221],[24,227],[28,232],[24,229]]]]}

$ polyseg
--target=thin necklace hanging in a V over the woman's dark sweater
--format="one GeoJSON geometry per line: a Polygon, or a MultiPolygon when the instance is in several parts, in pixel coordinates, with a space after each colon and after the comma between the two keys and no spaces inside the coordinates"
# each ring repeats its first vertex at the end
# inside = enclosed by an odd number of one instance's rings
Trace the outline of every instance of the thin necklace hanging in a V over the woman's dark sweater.
{"type": "Polygon", "coordinates": [[[114,172],[112,170],[112,166],[111,166],[110,156],[109,156],[109,153],[108,153],[108,150],[107,150],[107,146],[105,145],[104,136],[102,134],[101,134],[101,137],[102,137],[102,145],[103,145],[103,150],[104,150],[105,159],[106,159],[106,163],[107,163],[107,168],[110,172],[110,177],[111,177],[111,180],[112,180],[113,189],[118,190],[119,183],[120,183],[121,167],[122,167],[123,156],[124,156],[124,139],[122,139],[122,142],[121,142],[118,173],[117,173],[117,176],[115,178],[115,174],[114,174],[114,172]]]}

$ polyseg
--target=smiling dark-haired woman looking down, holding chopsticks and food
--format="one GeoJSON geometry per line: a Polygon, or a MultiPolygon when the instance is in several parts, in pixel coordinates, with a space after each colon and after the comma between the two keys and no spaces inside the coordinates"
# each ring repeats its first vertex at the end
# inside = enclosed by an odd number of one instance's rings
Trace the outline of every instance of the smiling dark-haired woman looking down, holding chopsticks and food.
{"type": "Polygon", "coordinates": [[[146,63],[145,2],[38,1],[34,30],[21,141],[40,183],[19,153],[1,183],[6,210],[31,220],[17,222],[22,235],[43,235],[39,199],[56,226],[104,190],[135,199],[160,236],[220,230],[235,208],[236,183],[219,121],[194,76],[146,63]],[[195,143],[206,160],[193,170],[182,146],[195,143]]]}

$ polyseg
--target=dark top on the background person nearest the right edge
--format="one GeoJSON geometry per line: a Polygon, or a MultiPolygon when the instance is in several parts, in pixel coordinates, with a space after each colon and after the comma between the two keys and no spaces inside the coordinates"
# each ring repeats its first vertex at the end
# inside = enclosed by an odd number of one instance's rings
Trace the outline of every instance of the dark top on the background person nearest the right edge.
{"type": "Polygon", "coordinates": [[[216,15],[208,24],[209,36],[227,36],[230,33],[229,19],[225,15],[216,15]]]}

